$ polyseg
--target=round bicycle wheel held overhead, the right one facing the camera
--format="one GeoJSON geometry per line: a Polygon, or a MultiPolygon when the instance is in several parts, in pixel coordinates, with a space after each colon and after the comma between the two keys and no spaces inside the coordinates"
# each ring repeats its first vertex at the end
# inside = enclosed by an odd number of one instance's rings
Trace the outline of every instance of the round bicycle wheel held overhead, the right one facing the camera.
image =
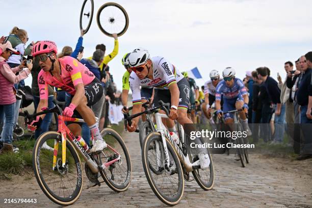
{"type": "Polygon", "coordinates": [[[123,35],[129,25],[126,11],[119,4],[112,2],[103,4],[98,9],[96,21],[100,31],[110,37],[113,37],[114,33],[118,36],[123,35]]]}

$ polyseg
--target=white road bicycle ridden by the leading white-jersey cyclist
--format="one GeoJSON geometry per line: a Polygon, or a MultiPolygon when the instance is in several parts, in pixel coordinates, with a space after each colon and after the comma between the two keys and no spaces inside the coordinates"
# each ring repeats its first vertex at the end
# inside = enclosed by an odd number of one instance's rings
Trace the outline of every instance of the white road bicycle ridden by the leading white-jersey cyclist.
{"type": "Polygon", "coordinates": [[[169,116],[169,104],[159,101],[158,107],[145,110],[131,116],[125,115],[125,125],[131,125],[132,119],[142,114],[154,114],[156,131],[147,135],[142,146],[142,163],[148,183],[154,194],[168,205],[177,204],[184,193],[184,179],[188,180],[189,172],[203,190],[211,190],[214,184],[214,166],[208,149],[210,167],[200,169],[197,154],[191,152],[188,139],[184,139],[184,129],[178,126],[178,144],[171,138],[162,118],[169,116]],[[164,110],[166,114],[158,113],[164,110]]]}

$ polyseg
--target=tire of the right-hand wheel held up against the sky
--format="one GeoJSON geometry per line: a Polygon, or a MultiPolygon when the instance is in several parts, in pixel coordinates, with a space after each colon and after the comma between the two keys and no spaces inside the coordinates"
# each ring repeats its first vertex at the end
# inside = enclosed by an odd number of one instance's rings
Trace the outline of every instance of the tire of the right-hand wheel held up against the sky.
{"type": "Polygon", "coordinates": [[[100,14],[102,12],[103,9],[105,9],[106,7],[109,7],[109,6],[114,6],[114,7],[117,7],[118,9],[121,10],[121,12],[123,13],[124,17],[125,17],[125,25],[124,25],[124,28],[122,29],[121,32],[117,33],[118,37],[119,36],[122,36],[128,29],[128,26],[129,26],[129,17],[128,17],[128,14],[127,12],[125,11],[125,9],[117,4],[117,3],[114,3],[114,2],[109,2],[109,3],[106,3],[106,4],[103,4],[97,11],[97,15],[96,15],[96,22],[97,22],[97,25],[98,25],[98,28],[100,29],[100,31],[102,33],[104,33],[105,35],[109,36],[109,37],[113,37],[113,35],[109,32],[107,32],[105,29],[103,29],[102,25],[101,25],[101,22],[100,22],[100,14]]]}

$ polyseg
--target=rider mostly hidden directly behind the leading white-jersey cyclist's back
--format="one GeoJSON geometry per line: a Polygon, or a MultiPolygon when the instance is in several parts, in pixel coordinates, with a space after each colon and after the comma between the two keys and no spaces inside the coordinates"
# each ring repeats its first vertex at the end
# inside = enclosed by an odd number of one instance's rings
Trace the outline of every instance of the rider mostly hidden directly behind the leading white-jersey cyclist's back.
{"type": "Polygon", "coordinates": [[[196,86],[195,80],[193,78],[189,77],[188,72],[184,71],[184,72],[182,72],[182,74],[187,79],[187,81],[189,82],[190,87],[191,87],[191,93],[190,93],[191,106],[188,109],[188,117],[190,119],[192,119],[193,123],[196,123],[196,115],[195,115],[196,103],[195,103],[195,100],[198,100],[198,96],[199,96],[198,88],[196,86]],[[192,88],[195,92],[195,97],[194,97],[194,94],[192,93],[192,88]]]}

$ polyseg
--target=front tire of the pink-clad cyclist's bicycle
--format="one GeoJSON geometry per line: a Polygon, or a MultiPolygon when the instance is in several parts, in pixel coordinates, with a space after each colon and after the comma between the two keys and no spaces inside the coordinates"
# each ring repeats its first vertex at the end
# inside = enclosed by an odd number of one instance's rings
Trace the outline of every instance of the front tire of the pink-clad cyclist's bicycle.
{"type": "MultiPolygon", "coordinates": [[[[44,142],[46,142],[48,139],[58,139],[61,137],[60,133],[57,132],[45,132],[42,134],[36,141],[34,150],[33,150],[33,168],[34,168],[34,173],[37,179],[37,182],[43,191],[43,193],[53,202],[60,204],[60,205],[70,205],[74,203],[81,195],[82,188],[83,188],[83,171],[82,171],[82,166],[80,162],[79,155],[73,146],[73,144],[67,140],[66,142],[66,148],[67,150],[72,154],[74,164],[76,165],[76,171],[77,171],[77,183],[76,183],[76,188],[73,191],[73,194],[70,195],[69,197],[60,197],[57,194],[55,194],[51,189],[47,186],[44,178],[42,175],[42,167],[40,167],[40,154],[41,153],[41,146],[44,142]]],[[[60,144],[61,145],[61,144],[60,144]]],[[[47,150],[49,151],[49,150],[47,150]]],[[[62,149],[59,148],[59,152],[62,151],[62,149]]],[[[60,152],[62,154],[62,152],[60,152]]],[[[67,152],[66,152],[67,153],[67,152]]],[[[66,158],[68,158],[68,154],[66,155],[66,158]]],[[[53,159],[53,158],[51,158],[53,159]]],[[[52,164],[52,163],[51,163],[52,164]]],[[[49,167],[51,170],[51,167],[49,167]]],[[[51,170],[52,171],[52,170],[51,170]]],[[[68,176],[67,176],[68,177],[68,176]]],[[[60,176],[61,178],[61,176],[60,176]]],[[[62,181],[62,179],[61,179],[62,181]]],[[[63,183],[64,184],[64,183],[63,183]]],[[[64,192],[64,191],[63,191],[64,192]]]]}

